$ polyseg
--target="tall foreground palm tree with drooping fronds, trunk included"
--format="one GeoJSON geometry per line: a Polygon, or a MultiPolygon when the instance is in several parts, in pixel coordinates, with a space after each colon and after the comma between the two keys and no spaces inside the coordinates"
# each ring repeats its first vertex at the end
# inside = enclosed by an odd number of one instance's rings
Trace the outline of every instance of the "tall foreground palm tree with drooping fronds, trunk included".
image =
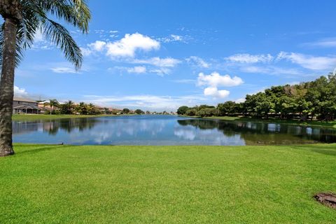
{"type": "Polygon", "coordinates": [[[12,144],[12,114],[14,71],[25,49],[34,43],[36,32],[57,45],[66,59],[80,69],[83,55],[62,25],[50,20],[64,20],[87,33],[91,15],[85,0],[0,0],[4,20],[0,28],[0,156],[14,153],[12,144]]]}

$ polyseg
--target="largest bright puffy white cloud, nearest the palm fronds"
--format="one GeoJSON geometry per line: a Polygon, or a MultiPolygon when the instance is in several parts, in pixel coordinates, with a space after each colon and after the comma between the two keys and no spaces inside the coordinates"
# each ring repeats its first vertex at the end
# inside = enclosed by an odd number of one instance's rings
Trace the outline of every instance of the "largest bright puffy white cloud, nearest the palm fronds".
{"type": "Polygon", "coordinates": [[[157,50],[160,43],[139,33],[126,34],[124,38],[106,44],[106,55],[110,57],[134,57],[137,50],[157,50]]]}

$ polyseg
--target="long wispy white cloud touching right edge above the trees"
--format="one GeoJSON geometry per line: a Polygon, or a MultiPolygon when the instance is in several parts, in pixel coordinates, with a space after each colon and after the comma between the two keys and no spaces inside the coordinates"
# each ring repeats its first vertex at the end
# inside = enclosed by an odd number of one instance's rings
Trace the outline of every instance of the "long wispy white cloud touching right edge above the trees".
{"type": "Polygon", "coordinates": [[[276,59],[287,59],[294,64],[299,64],[304,69],[311,70],[330,70],[336,66],[336,57],[314,57],[294,52],[280,52],[276,59]]]}

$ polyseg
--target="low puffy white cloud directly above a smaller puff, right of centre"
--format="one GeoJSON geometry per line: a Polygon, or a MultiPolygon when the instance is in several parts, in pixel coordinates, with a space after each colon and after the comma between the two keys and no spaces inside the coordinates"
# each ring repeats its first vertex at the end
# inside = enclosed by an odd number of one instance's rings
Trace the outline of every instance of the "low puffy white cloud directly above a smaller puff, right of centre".
{"type": "Polygon", "coordinates": [[[211,87],[218,86],[236,86],[241,85],[243,80],[237,76],[231,78],[229,75],[221,76],[218,72],[213,72],[210,75],[200,73],[197,78],[198,85],[208,85],[211,87]]]}

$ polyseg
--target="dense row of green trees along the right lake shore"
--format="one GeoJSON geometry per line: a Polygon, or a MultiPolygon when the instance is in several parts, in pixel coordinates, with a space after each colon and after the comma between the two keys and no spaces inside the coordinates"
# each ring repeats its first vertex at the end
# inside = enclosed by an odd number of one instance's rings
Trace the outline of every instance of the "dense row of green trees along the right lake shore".
{"type": "Polygon", "coordinates": [[[252,116],[257,118],[335,120],[336,75],[329,74],[297,85],[279,85],[246,95],[246,101],[215,106],[181,106],[177,113],[186,116],[252,116]]]}

